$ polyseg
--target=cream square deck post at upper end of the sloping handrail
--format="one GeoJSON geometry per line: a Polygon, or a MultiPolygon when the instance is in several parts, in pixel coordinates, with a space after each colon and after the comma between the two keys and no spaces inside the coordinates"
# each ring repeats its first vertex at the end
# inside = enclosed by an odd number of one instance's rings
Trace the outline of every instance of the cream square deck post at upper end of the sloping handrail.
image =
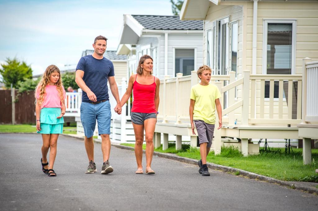
{"type": "Polygon", "coordinates": [[[250,102],[250,71],[243,71],[243,106],[242,106],[242,125],[248,125],[249,102],[250,102]]]}

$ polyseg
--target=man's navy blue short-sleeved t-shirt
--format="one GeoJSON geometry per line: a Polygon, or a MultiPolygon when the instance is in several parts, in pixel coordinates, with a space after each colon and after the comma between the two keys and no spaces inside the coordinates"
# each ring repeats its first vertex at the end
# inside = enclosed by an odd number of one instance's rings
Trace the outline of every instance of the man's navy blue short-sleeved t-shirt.
{"type": "MultiPolygon", "coordinates": [[[[105,57],[95,59],[92,55],[83,56],[77,64],[76,70],[78,69],[84,71],[83,80],[96,95],[97,101],[109,99],[107,78],[115,75],[114,65],[110,60],[105,57]]],[[[84,91],[82,102],[91,102],[84,91]]]]}

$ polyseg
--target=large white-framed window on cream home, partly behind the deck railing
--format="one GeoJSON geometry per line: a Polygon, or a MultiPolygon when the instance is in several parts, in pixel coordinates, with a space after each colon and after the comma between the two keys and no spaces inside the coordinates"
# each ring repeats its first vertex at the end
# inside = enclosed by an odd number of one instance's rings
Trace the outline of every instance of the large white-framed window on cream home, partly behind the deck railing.
{"type": "MultiPolygon", "coordinates": [[[[294,20],[264,20],[263,73],[293,74],[295,65],[294,20]]],[[[274,82],[274,98],[279,95],[279,82],[274,82]]],[[[269,81],[265,82],[269,98],[269,81]]]]}

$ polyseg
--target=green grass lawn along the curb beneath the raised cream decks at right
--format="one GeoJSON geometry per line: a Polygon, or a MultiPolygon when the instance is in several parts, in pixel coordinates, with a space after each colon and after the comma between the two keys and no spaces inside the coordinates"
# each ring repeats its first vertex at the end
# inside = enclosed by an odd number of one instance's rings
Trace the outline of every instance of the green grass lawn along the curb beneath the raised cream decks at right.
{"type": "MultiPolygon", "coordinates": [[[[122,144],[134,147],[135,144],[122,144]]],[[[143,145],[146,148],[146,145],[143,145]]],[[[175,144],[169,143],[167,150],[155,149],[157,152],[175,153],[181,157],[200,160],[200,152],[197,148],[190,148],[183,144],[182,149],[176,151],[175,144]]],[[[232,168],[239,168],[284,181],[313,181],[318,182],[318,175],[315,169],[318,168],[318,149],[312,149],[313,162],[310,165],[303,165],[302,149],[293,148],[290,154],[285,153],[285,148],[271,148],[271,151],[260,150],[258,155],[244,157],[235,148],[222,148],[220,155],[210,152],[207,161],[232,168]]]]}

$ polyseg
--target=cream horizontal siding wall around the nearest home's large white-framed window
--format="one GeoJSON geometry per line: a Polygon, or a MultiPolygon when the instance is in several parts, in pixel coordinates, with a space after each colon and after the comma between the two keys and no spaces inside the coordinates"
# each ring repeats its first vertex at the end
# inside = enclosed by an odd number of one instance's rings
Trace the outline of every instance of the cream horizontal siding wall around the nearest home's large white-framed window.
{"type": "MultiPolygon", "coordinates": [[[[302,59],[318,59],[318,3],[258,2],[257,11],[257,67],[263,73],[263,20],[296,20],[295,74],[302,74],[302,59]]],[[[246,69],[252,70],[253,3],[247,3],[246,69]]],[[[256,118],[259,118],[260,83],[256,83],[256,118]]],[[[278,118],[278,101],[274,101],[274,116],[278,118]]],[[[287,118],[287,103],[283,102],[283,118],[287,118]]],[[[264,118],[269,118],[269,102],[264,103],[264,118]]]]}

